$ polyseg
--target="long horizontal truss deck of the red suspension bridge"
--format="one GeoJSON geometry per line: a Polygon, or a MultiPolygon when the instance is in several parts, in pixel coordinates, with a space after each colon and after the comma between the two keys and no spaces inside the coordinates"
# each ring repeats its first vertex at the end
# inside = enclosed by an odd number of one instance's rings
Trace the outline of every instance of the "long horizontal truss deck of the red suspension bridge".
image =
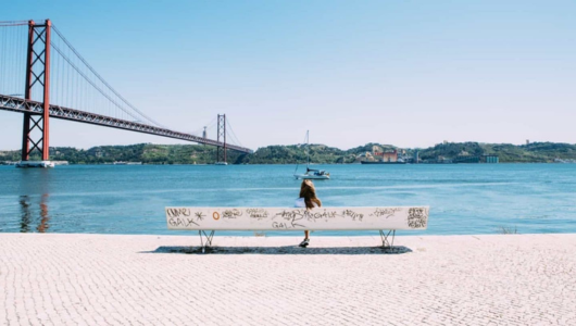
{"type": "MultiPolygon", "coordinates": [[[[0,110],[14,111],[29,114],[41,114],[43,112],[42,103],[36,101],[26,101],[21,98],[10,97],[0,95],[0,110]]],[[[130,131],[156,135],[162,137],[168,137],[180,140],[188,140],[198,143],[205,143],[211,146],[224,147],[224,142],[208,139],[190,134],[174,131],[161,127],[151,125],[140,124],[122,118],[115,118],[101,114],[95,114],[90,112],[68,109],[60,105],[50,105],[50,117],[75,121],[79,123],[92,124],[104,127],[112,127],[117,129],[125,129],[130,131]]],[[[252,153],[253,151],[248,148],[239,147],[236,145],[226,143],[226,148],[236,150],[243,153],[252,153]]]]}

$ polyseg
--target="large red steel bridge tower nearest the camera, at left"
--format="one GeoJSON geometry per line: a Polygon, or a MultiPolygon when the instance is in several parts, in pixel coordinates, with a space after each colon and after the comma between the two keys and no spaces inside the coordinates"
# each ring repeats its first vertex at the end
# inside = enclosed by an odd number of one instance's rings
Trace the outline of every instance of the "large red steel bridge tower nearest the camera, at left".
{"type": "MultiPolygon", "coordinates": [[[[24,113],[22,134],[22,161],[29,160],[34,150],[41,152],[42,161],[50,159],[50,29],[52,23],[28,22],[28,49],[26,55],[26,85],[24,96],[30,101],[33,89],[40,88],[42,93],[42,113],[24,113]],[[33,131],[35,135],[33,135],[33,131]],[[38,135],[39,134],[39,135],[38,135]],[[32,147],[30,147],[32,145],[32,147]]],[[[22,164],[22,163],[21,163],[22,164]]]]}

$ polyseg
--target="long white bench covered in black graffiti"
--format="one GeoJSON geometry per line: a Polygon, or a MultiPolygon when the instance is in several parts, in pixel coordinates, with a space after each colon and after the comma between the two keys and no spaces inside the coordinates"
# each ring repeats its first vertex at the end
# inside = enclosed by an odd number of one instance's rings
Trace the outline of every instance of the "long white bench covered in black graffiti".
{"type": "Polygon", "coordinates": [[[310,211],[287,208],[165,208],[165,211],[168,229],[198,230],[204,252],[212,244],[215,230],[379,230],[383,247],[391,248],[396,230],[426,229],[429,208],[316,208],[310,211]],[[206,235],[206,231],[210,233],[206,235]],[[391,241],[388,240],[390,234],[391,241]]]}

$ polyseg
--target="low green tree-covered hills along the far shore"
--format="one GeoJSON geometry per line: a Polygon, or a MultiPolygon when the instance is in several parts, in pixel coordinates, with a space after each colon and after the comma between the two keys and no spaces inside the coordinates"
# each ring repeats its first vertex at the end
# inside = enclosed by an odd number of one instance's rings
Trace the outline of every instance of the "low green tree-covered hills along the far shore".
{"type": "MultiPolygon", "coordinates": [[[[390,145],[367,143],[349,150],[325,145],[310,145],[310,160],[314,163],[354,163],[358,155],[371,152],[373,146],[393,149],[390,145]]],[[[408,156],[417,150],[421,160],[437,160],[439,156],[453,159],[465,155],[499,155],[501,163],[554,162],[554,159],[576,160],[576,145],[558,142],[535,142],[515,146],[510,143],[449,142],[426,149],[404,149],[408,156]]],[[[142,162],[145,164],[206,164],[214,163],[216,149],[202,145],[152,145],[100,146],[88,150],[54,147],[50,148],[52,161],[68,161],[71,164],[104,164],[115,161],[142,162]]],[[[33,156],[32,160],[38,160],[33,156]]],[[[20,151],[0,151],[0,162],[18,161],[20,151]]],[[[267,146],[252,154],[228,151],[231,164],[296,164],[305,163],[305,146],[267,146]]]]}

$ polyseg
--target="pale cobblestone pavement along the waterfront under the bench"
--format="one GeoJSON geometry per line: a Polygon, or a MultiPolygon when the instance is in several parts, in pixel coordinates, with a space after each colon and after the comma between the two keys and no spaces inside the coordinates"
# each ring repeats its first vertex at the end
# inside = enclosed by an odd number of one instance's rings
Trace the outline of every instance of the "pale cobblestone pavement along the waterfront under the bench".
{"type": "Polygon", "coordinates": [[[576,235],[300,240],[0,234],[0,325],[576,325],[576,235]]]}

